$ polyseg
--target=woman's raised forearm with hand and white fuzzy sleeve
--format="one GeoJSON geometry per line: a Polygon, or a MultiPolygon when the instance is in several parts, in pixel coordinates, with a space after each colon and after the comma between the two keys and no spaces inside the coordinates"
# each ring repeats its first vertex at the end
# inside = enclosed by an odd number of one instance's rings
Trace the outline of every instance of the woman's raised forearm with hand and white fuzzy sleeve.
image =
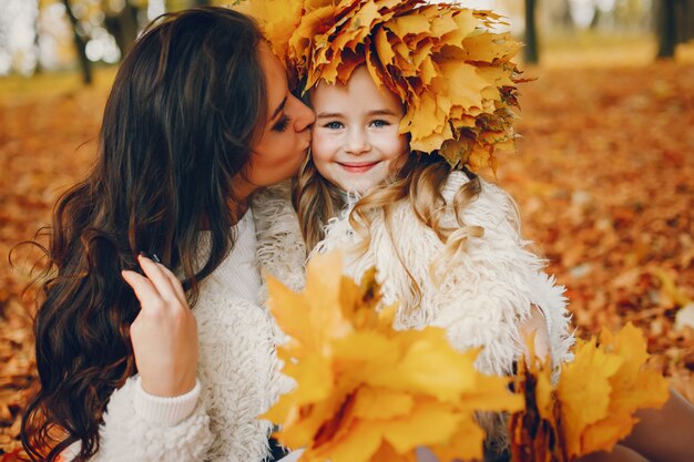
{"type": "Polygon", "coordinates": [[[92,460],[202,460],[212,433],[195,380],[196,321],[173,273],[140,264],[146,277],[123,271],[142,304],[130,329],[140,374],[112,393],[92,460]]]}

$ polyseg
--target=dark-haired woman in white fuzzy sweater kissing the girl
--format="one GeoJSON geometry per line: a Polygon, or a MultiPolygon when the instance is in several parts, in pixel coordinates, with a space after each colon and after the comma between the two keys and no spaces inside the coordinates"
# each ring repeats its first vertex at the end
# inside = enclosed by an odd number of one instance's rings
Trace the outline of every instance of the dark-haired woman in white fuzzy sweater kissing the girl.
{"type": "Polygon", "coordinates": [[[247,17],[194,9],[145,31],[115,78],[95,167],[55,207],[41,391],[22,428],[33,460],[268,455],[257,417],[286,383],[257,306],[249,198],[296,173],[313,121],[247,17]]]}

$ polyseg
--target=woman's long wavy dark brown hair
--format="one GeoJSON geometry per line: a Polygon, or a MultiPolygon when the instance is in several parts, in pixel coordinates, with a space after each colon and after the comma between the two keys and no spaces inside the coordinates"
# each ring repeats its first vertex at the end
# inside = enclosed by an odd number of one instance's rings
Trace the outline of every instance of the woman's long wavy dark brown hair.
{"type": "Polygon", "coordinates": [[[58,201],[50,227],[34,321],[41,390],[22,422],[32,460],[55,461],[74,442],[75,460],[93,455],[111,393],[135,373],[129,329],[140,304],[121,270],[156,253],[193,305],[233,247],[232,178],[267,111],[262,40],[243,14],[192,9],[155,21],[122,62],[98,163],[58,201]]]}

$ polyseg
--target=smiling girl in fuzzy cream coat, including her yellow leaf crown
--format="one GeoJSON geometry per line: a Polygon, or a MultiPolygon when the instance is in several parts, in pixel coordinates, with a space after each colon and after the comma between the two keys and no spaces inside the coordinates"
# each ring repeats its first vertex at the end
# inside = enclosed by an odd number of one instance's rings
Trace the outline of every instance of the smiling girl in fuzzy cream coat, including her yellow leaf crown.
{"type": "Polygon", "coordinates": [[[394,3],[304,3],[287,40],[316,113],[293,197],[309,254],[339,249],[357,280],[376,267],[397,327],[483,347],[482,371],[512,373],[531,332],[558,367],[573,343],[563,289],[527,249],[513,202],[468,168],[494,166],[494,144],[513,136],[518,44],[489,12],[394,3]]]}

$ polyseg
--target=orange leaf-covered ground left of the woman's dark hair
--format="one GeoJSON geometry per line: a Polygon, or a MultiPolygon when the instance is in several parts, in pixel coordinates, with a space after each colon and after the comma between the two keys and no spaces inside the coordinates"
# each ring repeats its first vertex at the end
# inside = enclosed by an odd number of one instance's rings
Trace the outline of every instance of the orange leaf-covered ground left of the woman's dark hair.
{"type": "Polygon", "coordinates": [[[89,90],[80,85],[76,75],[72,82],[65,76],[41,75],[27,85],[18,84],[17,78],[0,81],[2,461],[19,460],[14,451],[21,446],[22,411],[38,389],[31,331],[31,299],[38,288],[23,296],[22,291],[32,281],[31,269],[41,253],[31,246],[16,246],[49,224],[58,195],[91,167],[110,75],[99,74],[95,88],[89,90]],[[13,267],[8,263],[10,251],[13,267]]]}

